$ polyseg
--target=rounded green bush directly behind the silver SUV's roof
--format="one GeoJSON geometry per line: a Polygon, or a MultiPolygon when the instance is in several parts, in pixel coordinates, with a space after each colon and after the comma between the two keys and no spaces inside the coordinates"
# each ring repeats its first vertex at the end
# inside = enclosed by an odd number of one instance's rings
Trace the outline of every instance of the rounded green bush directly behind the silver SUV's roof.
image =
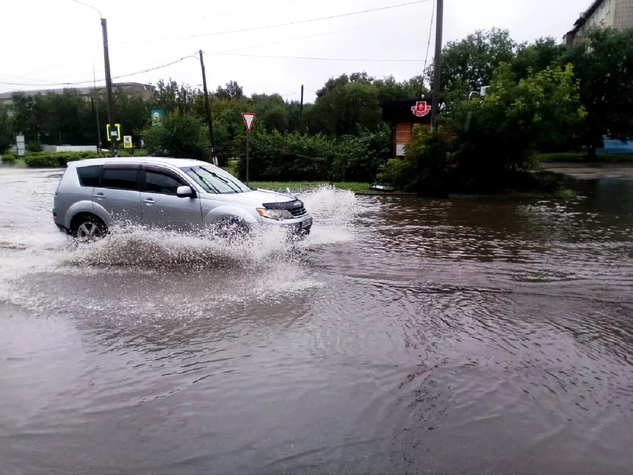
{"type": "Polygon", "coordinates": [[[160,125],[150,125],[141,135],[151,155],[198,160],[208,160],[211,156],[208,130],[192,114],[179,111],[166,114],[160,125]]]}

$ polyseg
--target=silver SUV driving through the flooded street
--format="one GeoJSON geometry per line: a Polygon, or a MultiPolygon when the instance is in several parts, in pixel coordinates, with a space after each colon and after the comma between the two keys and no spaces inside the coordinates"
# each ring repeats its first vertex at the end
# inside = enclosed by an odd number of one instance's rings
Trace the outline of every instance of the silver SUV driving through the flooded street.
{"type": "Polygon", "coordinates": [[[248,187],[210,163],[154,157],[68,163],[53,219],[60,231],[82,240],[103,237],[116,222],[179,230],[275,224],[299,235],[312,226],[292,196],[248,187]]]}

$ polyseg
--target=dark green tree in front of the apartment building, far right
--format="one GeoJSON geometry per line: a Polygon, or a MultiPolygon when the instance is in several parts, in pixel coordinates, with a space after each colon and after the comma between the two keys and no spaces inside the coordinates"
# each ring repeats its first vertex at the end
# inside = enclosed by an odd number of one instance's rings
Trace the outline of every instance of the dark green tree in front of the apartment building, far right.
{"type": "Polygon", "coordinates": [[[580,101],[587,114],[581,141],[589,158],[603,137],[625,141],[633,137],[633,28],[601,28],[561,57],[572,63],[580,82],[580,101]]]}

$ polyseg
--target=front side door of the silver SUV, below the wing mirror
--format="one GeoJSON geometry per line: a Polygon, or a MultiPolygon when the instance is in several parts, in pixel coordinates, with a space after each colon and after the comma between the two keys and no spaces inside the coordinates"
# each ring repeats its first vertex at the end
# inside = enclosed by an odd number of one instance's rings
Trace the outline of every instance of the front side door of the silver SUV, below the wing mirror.
{"type": "Polygon", "coordinates": [[[179,230],[195,229],[202,225],[199,196],[176,196],[179,186],[191,184],[169,168],[154,165],[142,167],[141,210],[144,224],[179,230]]]}

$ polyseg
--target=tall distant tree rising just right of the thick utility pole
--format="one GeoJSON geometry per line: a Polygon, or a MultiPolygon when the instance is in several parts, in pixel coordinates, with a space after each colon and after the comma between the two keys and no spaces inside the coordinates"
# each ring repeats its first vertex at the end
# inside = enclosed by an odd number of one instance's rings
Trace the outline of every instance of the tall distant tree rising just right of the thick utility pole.
{"type": "MultiPolygon", "coordinates": [[[[477,30],[461,41],[449,41],[442,49],[440,89],[451,87],[458,80],[468,82],[471,91],[489,85],[492,73],[500,63],[511,63],[517,43],[508,30],[477,30]]],[[[426,70],[433,77],[433,64],[426,70]]],[[[432,81],[429,81],[432,82],[432,81]]]]}

